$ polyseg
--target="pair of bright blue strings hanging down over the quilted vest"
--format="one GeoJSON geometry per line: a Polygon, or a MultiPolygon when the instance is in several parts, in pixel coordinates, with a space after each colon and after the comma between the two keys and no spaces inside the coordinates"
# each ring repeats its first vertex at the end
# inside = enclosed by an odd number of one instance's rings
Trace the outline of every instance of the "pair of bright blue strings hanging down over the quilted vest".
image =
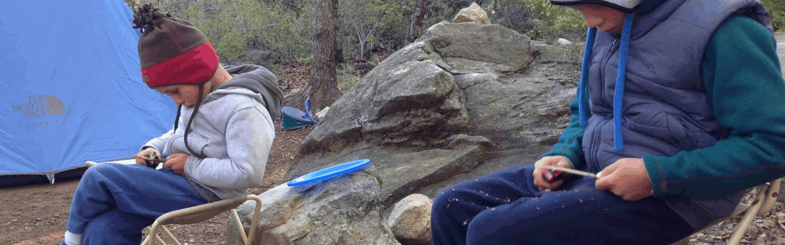
{"type": "MultiPolygon", "coordinates": [[[[624,17],[624,27],[622,28],[622,43],[619,49],[619,68],[616,70],[616,87],[613,94],[613,149],[615,151],[624,150],[624,136],[622,134],[622,108],[624,101],[624,82],[627,67],[627,50],[630,46],[630,32],[633,27],[635,13],[628,13],[624,17]]],[[[581,126],[586,126],[586,108],[583,106],[584,90],[586,88],[586,77],[589,73],[589,57],[594,42],[597,28],[589,28],[589,35],[586,36],[586,51],[583,53],[583,63],[581,68],[581,80],[578,89],[578,109],[581,126]]]]}

